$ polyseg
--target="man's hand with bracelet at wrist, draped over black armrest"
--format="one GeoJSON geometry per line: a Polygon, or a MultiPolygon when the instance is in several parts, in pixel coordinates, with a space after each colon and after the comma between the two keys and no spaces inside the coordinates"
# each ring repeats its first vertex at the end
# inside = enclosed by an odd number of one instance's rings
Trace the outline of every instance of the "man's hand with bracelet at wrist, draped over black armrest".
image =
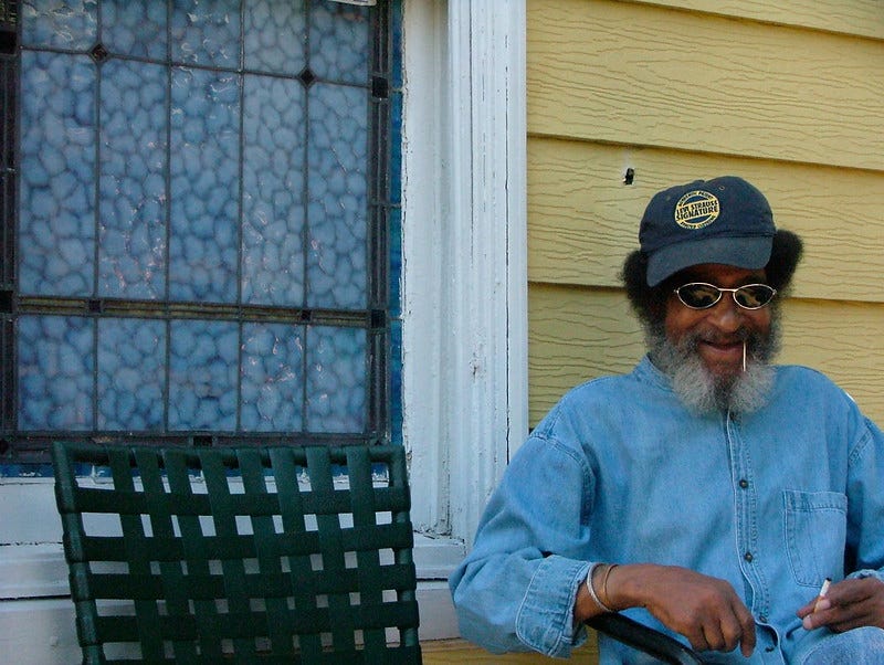
{"type": "Polygon", "coordinates": [[[613,609],[643,606],[665,626],[681,633],[696,651],[755,650],[755,620],[726,581],[686,568],[618,566],[608,579],[613,609]]]}

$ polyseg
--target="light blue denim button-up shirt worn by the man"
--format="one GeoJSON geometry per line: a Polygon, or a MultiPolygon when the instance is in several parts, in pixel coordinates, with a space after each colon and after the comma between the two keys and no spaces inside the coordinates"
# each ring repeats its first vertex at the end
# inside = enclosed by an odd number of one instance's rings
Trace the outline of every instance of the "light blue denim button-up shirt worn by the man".
{"type": "MultiPolygon", "coordinates": [[[[756,619],[748,662],[801,662],[829,634],[796,615],[824,578],[884,580],[884,436],[801,367],[778,367],[767,405],[743,416],[692,415],[648,358],[587,382],[516,453],[451,577],[462,635],[497,653],[569,655],[594,561],[723,578],[756,619]]],[[[607,638],[600,650],[602,663],[643,662],[607,638]]],[[[747,662],[739,650],[705,655],[747,662]]]]}

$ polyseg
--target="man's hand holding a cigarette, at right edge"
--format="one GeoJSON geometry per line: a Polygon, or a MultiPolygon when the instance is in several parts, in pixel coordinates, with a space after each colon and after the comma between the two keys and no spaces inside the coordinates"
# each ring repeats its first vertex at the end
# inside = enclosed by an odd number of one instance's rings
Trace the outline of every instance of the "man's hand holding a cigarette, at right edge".
{"type": "Polygon", "coordinates": [[[884,582],[876,578],[842,580],[798,610],[809,631],[827,626],[843,633],[863,625],[884,629],[884,582]],[[814,610],[815,608],[815,610],[814,610]]]}

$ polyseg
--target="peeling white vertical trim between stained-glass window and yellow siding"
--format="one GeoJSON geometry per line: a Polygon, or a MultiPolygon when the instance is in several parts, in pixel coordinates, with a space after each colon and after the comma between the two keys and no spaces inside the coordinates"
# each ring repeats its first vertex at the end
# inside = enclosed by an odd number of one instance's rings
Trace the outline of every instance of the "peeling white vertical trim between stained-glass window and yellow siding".
{"type": "Polygon", "coordinates": [[[420,530],[469,543],[527,434],[524,0],[406,0],[403,433],[420,530]]]}

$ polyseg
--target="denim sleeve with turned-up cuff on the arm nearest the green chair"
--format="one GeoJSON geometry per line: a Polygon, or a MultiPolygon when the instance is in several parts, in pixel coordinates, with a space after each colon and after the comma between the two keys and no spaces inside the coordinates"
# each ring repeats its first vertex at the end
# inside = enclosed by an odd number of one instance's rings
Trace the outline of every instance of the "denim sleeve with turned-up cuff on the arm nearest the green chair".
{"type": "Polygon", "coordinates": [[[494,653],[558,657],[583,642],[573,603],[590,566],[580,555],[591,485],[575,448],[537,435],[519,448],[450,579],[465,638],[494,653]]]}

